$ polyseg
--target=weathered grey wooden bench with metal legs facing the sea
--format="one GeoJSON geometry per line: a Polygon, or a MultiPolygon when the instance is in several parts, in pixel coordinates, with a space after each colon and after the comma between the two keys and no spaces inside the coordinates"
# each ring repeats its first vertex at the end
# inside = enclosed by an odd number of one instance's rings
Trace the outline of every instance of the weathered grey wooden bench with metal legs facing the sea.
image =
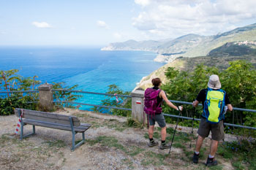
{"type": "Polygon", "coordinates": [[[91,127],[90,124],[80,123],[80,120],[78,120],[78,118],[75,116],[59,115],[52,112],[39,112],[29,109],[16,108],[15,115],[17,117],[20,117],[20,115],[22,115],[20,122],[20,140],[36,134],[36,125],[46,128],[61,129],[64,131],[72,131],[71,150],[75,150],[75,148],[79,147],[85,142],[84,132],[91,127]],[[24,125],[33,125],[33,132],[31,134],[23,136],[24,125]],[[75,144],[75,134],[77,133],[82,133],[83,140],[78,144],[75,144]]]}

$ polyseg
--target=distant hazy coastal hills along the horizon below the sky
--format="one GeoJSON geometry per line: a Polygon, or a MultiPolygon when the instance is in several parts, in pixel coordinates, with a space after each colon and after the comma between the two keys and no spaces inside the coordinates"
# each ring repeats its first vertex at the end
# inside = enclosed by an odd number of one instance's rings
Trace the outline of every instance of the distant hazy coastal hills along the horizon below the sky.
{"type": "Polygon", "coordinates": [[[173,58],[206,56],[214,50],[228,42],[255,42],[256,23],[236,28],[214,36],[200,36],[197,34],[187,34],[176,39],[165,39],[163,41],[142,41],[129,40],[127,42],[111,43],[102,50],[147,50],[159,53],[155,61],[171,62],[173,58]]]}

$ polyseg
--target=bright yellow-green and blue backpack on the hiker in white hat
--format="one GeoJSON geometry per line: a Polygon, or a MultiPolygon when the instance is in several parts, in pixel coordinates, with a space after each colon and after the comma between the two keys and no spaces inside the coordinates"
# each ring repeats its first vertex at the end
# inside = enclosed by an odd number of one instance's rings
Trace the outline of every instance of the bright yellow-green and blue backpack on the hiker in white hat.
{"type": "Polygon", "coordinates": [[[219,123],[223,120],[225,110],[225,90],[213,90],[208,88],[206,101],[204,102],[203,117],[206,117],[209,123],[219,123]]]}

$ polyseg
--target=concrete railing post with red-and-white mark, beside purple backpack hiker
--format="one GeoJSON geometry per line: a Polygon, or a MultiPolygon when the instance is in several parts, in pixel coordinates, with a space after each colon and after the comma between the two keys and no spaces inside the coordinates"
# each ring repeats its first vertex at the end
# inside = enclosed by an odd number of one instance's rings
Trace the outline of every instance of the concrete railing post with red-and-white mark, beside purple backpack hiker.
{"type": "Polygon", "coordinates": [[[144,107],[144,90],[135,90],[131,93],[132,96],[132,118],[138,120],[140,123],[145,123],[143,117],[144,107]]]}

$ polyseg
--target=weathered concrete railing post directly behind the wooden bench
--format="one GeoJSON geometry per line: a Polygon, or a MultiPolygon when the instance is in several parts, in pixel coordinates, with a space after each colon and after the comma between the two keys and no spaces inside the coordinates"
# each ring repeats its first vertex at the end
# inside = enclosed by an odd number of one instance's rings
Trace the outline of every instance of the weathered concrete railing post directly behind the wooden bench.
{"type": "Polygon", "coordinates": [[[53,85],[48,83],[39,85],[39,109],[42,111],[52,111],[53,110],[53,85]]]}

